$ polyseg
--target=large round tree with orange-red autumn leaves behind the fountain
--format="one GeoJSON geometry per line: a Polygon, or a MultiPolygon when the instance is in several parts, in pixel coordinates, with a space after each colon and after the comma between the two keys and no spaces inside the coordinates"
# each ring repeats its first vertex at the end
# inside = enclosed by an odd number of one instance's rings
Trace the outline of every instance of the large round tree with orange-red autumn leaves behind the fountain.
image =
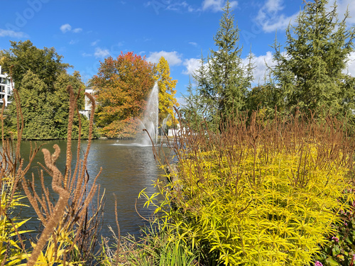
{"type": "Polygon", "coordinates": [[[109,138],[131,138],[136,133],[146,98],[154,85],[154,65],[133,52],[100,63],[93,77],[97,97],[97,127],[109,138]]]}

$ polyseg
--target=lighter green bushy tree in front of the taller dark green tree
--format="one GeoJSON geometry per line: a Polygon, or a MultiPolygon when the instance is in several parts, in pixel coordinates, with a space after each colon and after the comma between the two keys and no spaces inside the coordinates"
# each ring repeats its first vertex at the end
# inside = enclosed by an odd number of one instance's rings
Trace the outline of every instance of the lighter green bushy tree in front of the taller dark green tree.
{"type": "MultiPolygon", "coordinates": [[[[79,73],[73,75],[61,73],[55,81],[55,92],[48,92],[47,86],[37,74],[28,70],[21,81],[18,94],[21,99],[23,115],[23,138],[31,140],[63,139],[67,137],[67,114],[69,113],[69,95],[67,85],[77,93],[83,87],[79,73]]],[[[83,98],[82,98],[83,99],[83,98]]],[[[82,99],[78,107],[83,105],[82,99]]],[[[12,131],[16,131],[16,104],[9,106],[9,119],[12,131]]],[[[87,121],[82,117],[82,132],[87,136],[87,121]]],[[[77,138],[77,118],[74,122],[73,137],[77,138]]]]}

